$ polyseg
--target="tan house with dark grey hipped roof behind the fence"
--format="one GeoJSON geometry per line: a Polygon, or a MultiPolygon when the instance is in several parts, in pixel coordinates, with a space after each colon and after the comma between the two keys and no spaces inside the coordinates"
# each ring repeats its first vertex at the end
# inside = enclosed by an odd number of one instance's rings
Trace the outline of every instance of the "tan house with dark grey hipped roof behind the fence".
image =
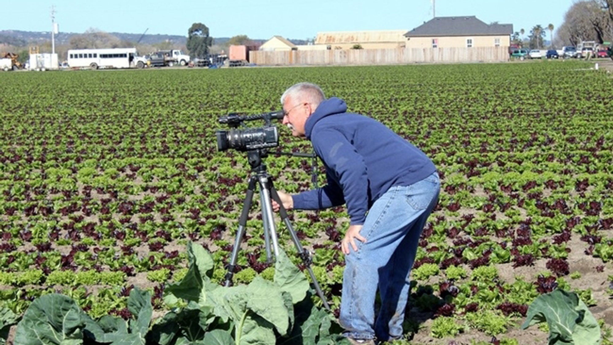
{"type": "Polygon", "coordinates": [[[474,16],[436,17],[403,36],[407,48],[509,47],[512,24],[485,24],[474,16]]]}

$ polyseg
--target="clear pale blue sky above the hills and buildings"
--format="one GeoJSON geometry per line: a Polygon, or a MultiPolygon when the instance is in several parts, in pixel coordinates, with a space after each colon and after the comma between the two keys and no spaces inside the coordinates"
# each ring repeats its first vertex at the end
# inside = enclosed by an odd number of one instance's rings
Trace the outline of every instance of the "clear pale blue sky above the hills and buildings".
{"type": "MultiPolygon", "coordinates": [[[[3,0],[7,1],[8,0],[3,0]]],[[[526,36],[535,25],[558,28],[574,0],[435,0],[436,16],[475,15],[485,23],[511,23],[526,36]]],[[[50,31],[51,5],[61,32],[97,28],[107,32],[187,36],[192,23],[208,26],[210,36],[246,34],[252,39],[280,35],[315,37],[318,31],[410,30],[430,20],[432,0],[310,1],[66,1],[28,0],[2,6],[0,30],[50,31]]],[[[554,30],[555,34],[555,30],[554,30]]],[[[549,39],[549,35],[547,35],[549,39]]]]}

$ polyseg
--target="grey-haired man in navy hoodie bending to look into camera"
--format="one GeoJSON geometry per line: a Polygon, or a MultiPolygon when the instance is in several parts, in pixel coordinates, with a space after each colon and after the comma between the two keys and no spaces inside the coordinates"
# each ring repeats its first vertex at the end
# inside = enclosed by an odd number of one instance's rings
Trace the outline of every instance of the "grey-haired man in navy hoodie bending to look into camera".
{"type": "MultiPolygon", "coordinates": [[[[326,166],[327,185],[289,195],[287,210],[346,203],[351,223],[341,241],[345,273],[340,324],[354,344],[402,338],[409,271],[419,236],[438,200],[432,161],[383,124],[347,113],[319,86],[299,83],[281,96],[283,124],[305,137],[326,166]],[[375,320],[375,296],[381,308],[375,320]]],[[[273,202],[273,208],[279,205],[273,202]]]]}

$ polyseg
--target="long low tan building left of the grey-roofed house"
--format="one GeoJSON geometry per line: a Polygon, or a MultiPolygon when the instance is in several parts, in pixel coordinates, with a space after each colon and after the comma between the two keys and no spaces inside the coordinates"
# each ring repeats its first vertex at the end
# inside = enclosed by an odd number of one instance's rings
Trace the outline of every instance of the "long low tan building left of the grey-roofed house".
{"type": "Polygon", "coordinates": [[[356,45],[364,49],[403,48],[406,30],[376,30],[376,31],[331,31],[318,32],[315,46],[326,49],[351,49],[356,45]]]}

